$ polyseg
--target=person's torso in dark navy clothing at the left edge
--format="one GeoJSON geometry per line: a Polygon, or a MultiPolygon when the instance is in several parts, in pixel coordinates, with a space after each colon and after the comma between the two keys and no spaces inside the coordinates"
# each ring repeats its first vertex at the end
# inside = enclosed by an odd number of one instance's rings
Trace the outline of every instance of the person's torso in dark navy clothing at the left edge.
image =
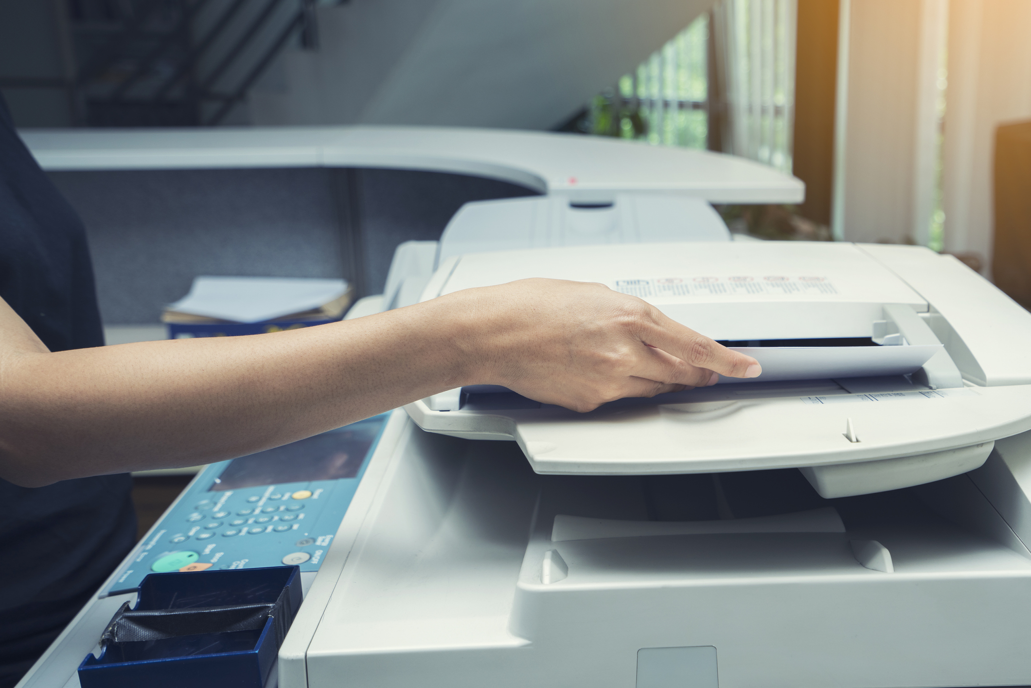
{"type": "MultiPolygon", "coordinates": [[[[0,297],[52,352],[104,343],[81,222],[2,99],[0,297]]],[[[0,480],[0,686],[31,665],[132,547],[131,487],[128,474],[41,488],[0,480]]]]}

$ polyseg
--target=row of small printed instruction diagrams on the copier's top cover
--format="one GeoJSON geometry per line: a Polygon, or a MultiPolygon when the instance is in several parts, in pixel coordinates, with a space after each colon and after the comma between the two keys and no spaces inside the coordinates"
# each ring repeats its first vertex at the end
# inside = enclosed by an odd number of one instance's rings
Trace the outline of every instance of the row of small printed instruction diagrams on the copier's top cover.
{"type": "Polygon", "coordinates": [[[617,280],[616,291],[631,296],[751,296],[773,294],[813,296],[837,294],[830,280],[820,275],[790,276],[784,274],[695,277],[655,277],[650,280],[617,280]]]}

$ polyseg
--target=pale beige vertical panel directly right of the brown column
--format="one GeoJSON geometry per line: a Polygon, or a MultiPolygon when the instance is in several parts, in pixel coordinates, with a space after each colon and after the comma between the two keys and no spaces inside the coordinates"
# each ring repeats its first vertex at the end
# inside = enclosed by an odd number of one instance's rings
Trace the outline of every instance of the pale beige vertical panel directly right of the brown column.
{"type": "Polygon", "coordinates": [[[832,229],[926,242],[947,0],[842,0],[832,229]]]}

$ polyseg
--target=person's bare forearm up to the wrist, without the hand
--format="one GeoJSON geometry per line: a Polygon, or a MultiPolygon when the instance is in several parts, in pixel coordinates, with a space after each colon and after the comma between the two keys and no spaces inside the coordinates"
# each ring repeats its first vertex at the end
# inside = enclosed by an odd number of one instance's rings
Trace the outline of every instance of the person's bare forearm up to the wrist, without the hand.
{"type": "Polygon", "coordinates": [[[3,477],[42,485],[226,459],[465,384],[455,305],[271,335],[8,356],[3,477]]]}

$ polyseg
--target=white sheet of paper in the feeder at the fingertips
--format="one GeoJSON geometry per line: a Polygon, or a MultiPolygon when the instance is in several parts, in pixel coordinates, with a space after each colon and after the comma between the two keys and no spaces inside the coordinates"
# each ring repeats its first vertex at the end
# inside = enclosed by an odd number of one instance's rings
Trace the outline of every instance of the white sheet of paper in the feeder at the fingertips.
{"type": "Polygon", "coordinates": [[[763,374],[751,380],[724,378],[721,383],[766,383],[780,380],[827,380],[904,375],[916,372],[941,345],[898,347],[732,347],[763,366],[763,374]]]}

